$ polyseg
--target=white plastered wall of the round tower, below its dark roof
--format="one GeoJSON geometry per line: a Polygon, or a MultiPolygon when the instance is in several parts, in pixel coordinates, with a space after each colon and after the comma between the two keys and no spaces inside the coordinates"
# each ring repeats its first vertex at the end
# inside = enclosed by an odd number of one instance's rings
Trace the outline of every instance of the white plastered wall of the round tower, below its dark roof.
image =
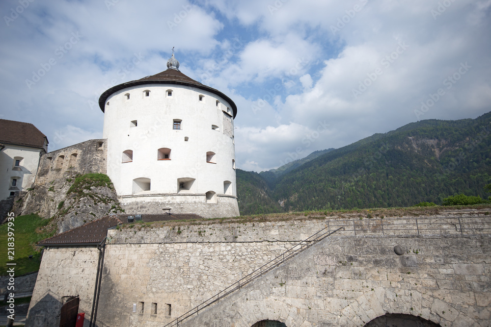
{"type": "MultiPolygon", "coordinates": [[[[173,84],[123,89],[111,95],[107,103],[104,138],[108,139],[108,176],[118,196],[123,197],[123,204],[155,201],[153,197],[141,197],[148,194],[164,195],[169,206],[185,203],[186,197],[176,197],[179,193],[199,195],[198,202],[206,205],[205,193],[224,194],[225,181],[231,182],[227,193],[237,195],[232,164],[235,159],[233,118],[223,112],[231,107],[229,103],[213,93],[173,84]],[[167,96],[169,89],[173,91],[172,97],[167,96]],[[145,90],[150,91],[149,97],[145,96],[145,90]],[[125,96],[128,93],[129,100],[125,96]],[[204,96],[202,101],[199,95],[204,96]],[[232,121],[232,127],[227,126],[224,117],[232,121]],[[180,130],[173,129],[174,119],[182,120],[180,130]],[[131,127],[132,121],[137,121],[137,126],[131,127]],[[218,130],[212,129],[212,125],[218,126],[218,130]],[[157,160],[160,148],[171,149],[171,160],[157,160]],[[133,151],[133,161],[122,163],[126,150],[133,151]],[[206,162],[207,151],[216,153],[215,163],[206,162]],[[133,180],[140,177],[149,178],[151,188],[132,197],[133,180]],[[178,178],[183,177],[195,179],[189,191],[178,190],[178,178]]],[[[219,203],[220,197],[216,201],[219,203]]],[[[237,207],[234,215],[238,214],[237,207]]]]}

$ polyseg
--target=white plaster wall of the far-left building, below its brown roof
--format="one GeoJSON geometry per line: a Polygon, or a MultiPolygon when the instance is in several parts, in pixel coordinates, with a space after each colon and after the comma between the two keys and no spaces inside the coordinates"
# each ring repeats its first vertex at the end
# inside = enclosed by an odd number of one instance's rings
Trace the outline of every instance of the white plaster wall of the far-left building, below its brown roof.
{"type": "Polygon", "coordinates": [[[12,177],[17,178],[16,187],[19,191],[25,191],[34,183],[41,151],[41,149],[14,145],[6,145],[0,151],[0,200],[6,199],[10,192],[18,192],[17,190],[9,190],[12,186],[12,177]],[[18,167],[20,170],[12,170],[15,163],[14,157],[24,158],[18,167]]]}

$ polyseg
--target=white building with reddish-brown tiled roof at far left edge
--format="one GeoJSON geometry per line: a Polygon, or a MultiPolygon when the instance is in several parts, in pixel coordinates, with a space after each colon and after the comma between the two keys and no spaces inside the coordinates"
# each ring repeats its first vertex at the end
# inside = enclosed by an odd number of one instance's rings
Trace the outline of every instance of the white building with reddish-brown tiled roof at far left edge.
{"type": "Polygon", "coordinates": [[[36,126],[0,119],[0,200],[29,188],[48,138],[36,126]]]}

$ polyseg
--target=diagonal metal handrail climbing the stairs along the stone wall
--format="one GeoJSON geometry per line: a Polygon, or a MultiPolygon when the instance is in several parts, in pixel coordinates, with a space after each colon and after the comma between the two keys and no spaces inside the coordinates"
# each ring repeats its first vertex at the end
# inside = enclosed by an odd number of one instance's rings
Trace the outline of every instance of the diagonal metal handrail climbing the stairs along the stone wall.
{"type": "Polygon", "coordinates": [[[291,259],[292,257],[296,256],[300,252],[307,250],[312,245],[322,241],[327,236],[334,234],[335,232],[337,232],[338,230],[341,230],[341,229],[345,229],[345,227],[342,226],[342,227],[337,228],[334,231],[330,231],[329,226],[327,226],[327,227],[319,230],[317,233],[309,236],[307,239],[299,242],[298,244],[296,244],[292,248],[290,248],[287,251],[276,256],[273,260],[270,260],[269,262],[265,263],[264,265],[262,265],[258,269],[254,270],[252,273],[250,273],[246,277],[239,279],[238,281],[236,281],[232,285],[221,290],[220,292],[218,292],[218,294],[212,296],[210,299],[198,304],[197,306],[195,306],[194,308],[192,308],[191,310],[189,310],[185,314],[181,315],[180,317],[174,319],[173,321],[171,321],[170,323],[168,323],[164,327],[179,326],[179,323],[181,323],[183,320],[191,317],[194,314],[197,315],[199,313],[199,310],[203,310],[207,306],[209,306],[215,302],[218,302],[220,299],[222,299],[222,298],[226,297],[227,295],[235,292],[236,290],[240,289],[241,287],[245,286],[246,284],[250,283],[251,281],[263,276],[264,274],[266,274],[270,270],[273,270],[274,268],[278,267],[280,264],[291,259]],[[327,229],[327,231],[325,231],[326,229],[327,229]],[[325,231],[325,232],[323,232],[323,231],[325,231]],[[318,235],[318,234],[320,234],[320,235],[318,235]],[[300,248],[298,248],[299,246],[300,246],[300,248]],[[296,249],[296,248],[298,248],[298,249],[296,249]],[[294,249],[296,249],[296,250],[294,250],[294,249]],[[279,260],[277,260],[277,259],[279,259],[279,260]]]}

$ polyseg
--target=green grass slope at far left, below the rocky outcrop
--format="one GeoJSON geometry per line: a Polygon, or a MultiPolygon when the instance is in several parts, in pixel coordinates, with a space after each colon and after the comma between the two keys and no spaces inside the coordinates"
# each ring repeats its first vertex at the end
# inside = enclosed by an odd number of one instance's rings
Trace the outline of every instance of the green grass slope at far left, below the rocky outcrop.
{"type": "Polygon", "coordinates": [[[0,275],[7,274],[7,262],[15,262],[15,275],[21,276],[39,270],[41,252],[34,246],[37,242],[51,237],[55,231],[36,232],[39,227],[46,226],[49,219],[43,219],[36,214],[15,217],[14,225],[14,249],[15,259],[7,259],[7,223],[0,226],[0,275]],[[29,259],[29,255],[32,258],[29,259]]]}

